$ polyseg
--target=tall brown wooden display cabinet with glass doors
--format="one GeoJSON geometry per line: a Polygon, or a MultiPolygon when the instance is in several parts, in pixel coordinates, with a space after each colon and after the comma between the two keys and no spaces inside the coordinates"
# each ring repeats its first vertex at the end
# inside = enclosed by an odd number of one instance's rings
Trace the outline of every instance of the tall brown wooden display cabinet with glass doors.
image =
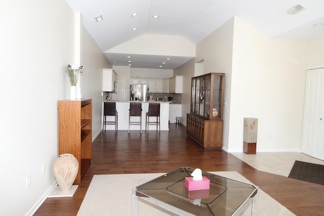
{"type": "Polygon", "coordinates": [[[224,85],[224,73],[209,73],[191,78],[187,135],[204,148],[223,146],[224,85]]]}

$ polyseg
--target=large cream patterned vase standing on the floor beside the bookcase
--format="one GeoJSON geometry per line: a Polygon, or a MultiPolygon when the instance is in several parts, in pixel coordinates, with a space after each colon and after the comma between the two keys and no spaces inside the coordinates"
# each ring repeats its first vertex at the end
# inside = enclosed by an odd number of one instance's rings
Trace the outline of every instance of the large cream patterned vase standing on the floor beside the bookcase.
{"type": "Polygon", "coordinates": [[[54,178],[63,192],[73,185],[79,169],[77,159],[72,154],[61,154],[53,164],[54,178]]]}

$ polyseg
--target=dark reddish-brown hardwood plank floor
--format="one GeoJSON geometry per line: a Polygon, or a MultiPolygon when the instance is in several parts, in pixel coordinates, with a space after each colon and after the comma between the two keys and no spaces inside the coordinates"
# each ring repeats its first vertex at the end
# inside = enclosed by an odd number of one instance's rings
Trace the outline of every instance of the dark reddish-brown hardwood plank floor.
{"type": "MultiPolygon", "coordinates": [[[[237,171],[296,215],[324,215],[324,185],[258,171],[221,149],[204,150],[186,136],[186,127],[170,131],[113,131],[93,142],[92,164],[73,197],[48,198],[34,215],[76,215],[93,175],[169,172],[181,166],[204,171],[237,171]]],[[[280,164],[278,164],[280,166],[280,164]]]]}

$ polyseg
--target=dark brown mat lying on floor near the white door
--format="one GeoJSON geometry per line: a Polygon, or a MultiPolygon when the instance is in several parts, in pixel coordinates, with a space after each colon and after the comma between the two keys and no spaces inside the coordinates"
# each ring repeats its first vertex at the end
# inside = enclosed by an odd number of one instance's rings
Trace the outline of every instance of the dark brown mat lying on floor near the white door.
{"type": "Polygon", "coordinates": [[[288,177],[324,185],[324,165],[296,160],[288,177]]]}

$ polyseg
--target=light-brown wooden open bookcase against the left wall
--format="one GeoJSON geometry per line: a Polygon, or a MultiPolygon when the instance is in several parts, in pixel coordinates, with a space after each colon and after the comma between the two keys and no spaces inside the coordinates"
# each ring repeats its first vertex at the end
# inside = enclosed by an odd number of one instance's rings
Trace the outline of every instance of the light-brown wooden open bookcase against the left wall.
{"type": "Polygon", "coordinates": [[[74,184],[81,182],[92,159],[92,100],[59,101],[59,155],[73,154],[79,163],[74,184]]]}

